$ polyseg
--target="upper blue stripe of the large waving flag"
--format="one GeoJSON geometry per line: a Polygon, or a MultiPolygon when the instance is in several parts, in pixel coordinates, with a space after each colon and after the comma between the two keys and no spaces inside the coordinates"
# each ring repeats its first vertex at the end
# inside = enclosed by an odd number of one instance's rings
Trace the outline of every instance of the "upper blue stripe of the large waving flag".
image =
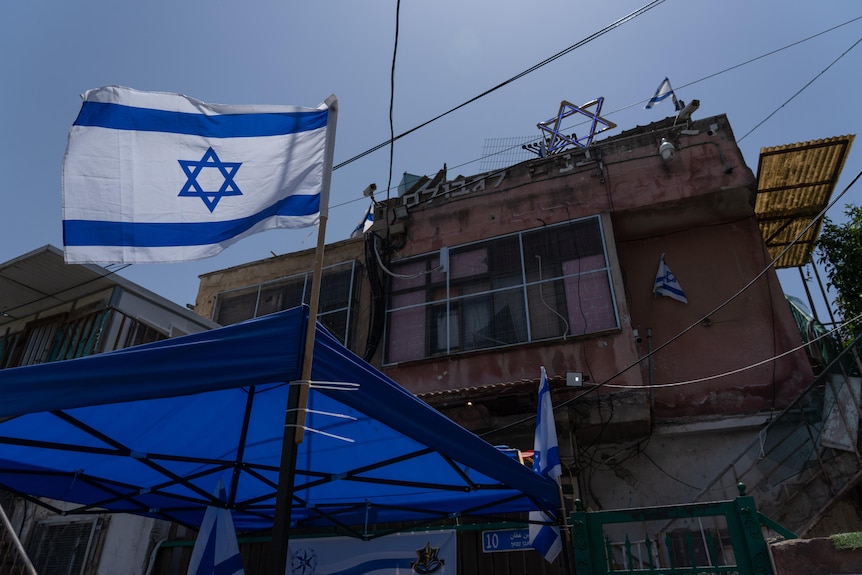
{"type": "Polygon", "coordinates": [[[84,102],[76,126],[114,130],[165,132],[207,138],[283,136],[326,126],[327,110],[275,114],[192,114],[136,108],[105,102],[84,102]]]}

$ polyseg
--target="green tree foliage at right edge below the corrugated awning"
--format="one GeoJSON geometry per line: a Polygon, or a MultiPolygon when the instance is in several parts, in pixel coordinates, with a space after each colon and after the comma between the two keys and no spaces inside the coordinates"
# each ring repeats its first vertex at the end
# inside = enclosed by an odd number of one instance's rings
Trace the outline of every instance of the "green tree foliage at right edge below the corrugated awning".
{"type": "Polygon", "coordinates": [[[818,262],[828,278],[827,287],[836,292],[835,307],[841,319],[849,322],[844,338],[862,335],[862,208],[844,208],[847,221],[823,221],[817,242],[818,262]]]}

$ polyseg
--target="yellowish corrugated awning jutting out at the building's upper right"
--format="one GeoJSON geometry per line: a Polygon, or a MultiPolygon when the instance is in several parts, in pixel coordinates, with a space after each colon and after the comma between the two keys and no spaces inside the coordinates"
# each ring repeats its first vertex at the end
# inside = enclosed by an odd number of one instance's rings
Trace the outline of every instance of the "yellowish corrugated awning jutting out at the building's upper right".
{"type": "Polygon", "coordinates": [[[854,137],[761,148],[754,211],[770,258],[778,257],[795,240],[776,268],[810,261],[821,221],[806,227],[829,204],[854,137]]]}

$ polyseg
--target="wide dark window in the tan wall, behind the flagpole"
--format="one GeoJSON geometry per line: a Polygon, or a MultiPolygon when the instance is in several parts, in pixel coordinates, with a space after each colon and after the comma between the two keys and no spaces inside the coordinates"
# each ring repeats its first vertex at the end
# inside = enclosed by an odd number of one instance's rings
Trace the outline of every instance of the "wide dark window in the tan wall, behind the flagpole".
{"type": "MultiPolygon", "coordinates": [[[[350,341],[350,317],[355,293],[356,263],[343,262],[323,270],[317,319],[345,345],[350,341]]],[[[221,292],[213,319],[230,325],[309,303],[312,273],[221,292]]]]}

